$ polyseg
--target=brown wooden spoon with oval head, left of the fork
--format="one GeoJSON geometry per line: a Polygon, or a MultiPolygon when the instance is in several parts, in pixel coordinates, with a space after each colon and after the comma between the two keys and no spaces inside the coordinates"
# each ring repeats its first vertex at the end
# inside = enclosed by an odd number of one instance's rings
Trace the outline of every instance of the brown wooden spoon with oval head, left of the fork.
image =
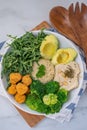
{"type": "Polygon", "coordinates": [[[64,36],[79,44],[79,39],[72,29],[72,25],[69,21],[69,12],[67,9],[61,6],[57,6],[51,9],[49,18],[52,26],[62,33],[64,36]]]}

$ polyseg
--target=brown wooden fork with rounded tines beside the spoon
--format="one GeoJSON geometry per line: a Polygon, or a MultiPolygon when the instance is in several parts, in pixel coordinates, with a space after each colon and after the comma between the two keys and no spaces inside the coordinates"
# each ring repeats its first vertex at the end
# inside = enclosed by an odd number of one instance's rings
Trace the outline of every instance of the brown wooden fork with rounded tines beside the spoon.
{"type": "Polygon", "coordinates": [[[73,27],[73,31],[79,39],[79,46],[84,50],[87,61],[87,6],[79,3],[73,3],[69,7],[69,19],[73,27]]]}

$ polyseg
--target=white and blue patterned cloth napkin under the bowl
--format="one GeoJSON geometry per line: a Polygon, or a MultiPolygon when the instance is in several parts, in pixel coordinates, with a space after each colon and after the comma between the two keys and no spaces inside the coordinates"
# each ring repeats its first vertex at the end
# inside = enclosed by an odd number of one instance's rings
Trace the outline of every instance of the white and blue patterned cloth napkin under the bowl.
{"type": "MultiPolygon", "coordinates": [[[[56,31],[54,28],[50,28],[50,29],[47,29],[47,30],[50,30],[52,32],[56,32],[58,33],[58,31],[56,31]]],[[[2,55],[1,55],[1,50],[2,50],[2,47],[4,45],[5,41],[3,42],[0,42],[0,61],[1,61],[1,58],[2,58],[2,55]]],[[[66,106],[64,109],[61,109],[59,113],[57,114],[51,114],[51,115],[47,115],[46,117],[48,118],[51,118],[51,119],[55,119],[61,123],[63,123],[64,121],[70,121],[70,119],[72,118],[73,116],[73,112],[78,104],[78,101],[81,97],[81,95],[83,94],[83,92],[85,91],[85,88],[87,87],[87,68],[86,68],[86,58],[85,58],[85,55],[84,55],[84,52],[82,51],[82,49],[77,46],[75,44],[76,48],[78,49],[79,51],[79,54],[81,56],[81,59],[82,59],[82,62],[83,62],[83,66],[84,66],[84,81],[83,81],[83,85],[81,87],[81,89],[79,90],[78,94],[76,95],[76,97],[74,98],[74,101],[71,102],[68,106],[66,106]]]]}

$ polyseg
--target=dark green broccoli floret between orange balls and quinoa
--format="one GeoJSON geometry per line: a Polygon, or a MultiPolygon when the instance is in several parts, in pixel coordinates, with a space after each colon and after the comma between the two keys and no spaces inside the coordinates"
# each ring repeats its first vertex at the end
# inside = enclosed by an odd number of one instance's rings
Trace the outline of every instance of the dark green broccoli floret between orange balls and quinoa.
{"type": "Polygon", "coordinates": [[[32,84],[30,85],[30,91],[31,93],[35,93],[36,95],[38,95],[40,98],[42,98],[46,93],[44,84],[42,84],[39,80],[35,80],[32,82],[32,84]]]}

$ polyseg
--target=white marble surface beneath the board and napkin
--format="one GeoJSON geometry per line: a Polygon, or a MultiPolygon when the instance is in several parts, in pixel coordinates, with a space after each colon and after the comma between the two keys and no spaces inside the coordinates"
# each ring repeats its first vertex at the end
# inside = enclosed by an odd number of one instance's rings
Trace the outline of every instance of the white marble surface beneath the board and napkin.
{"type": "MultiPolygon", "coordinates": [[[[78,0],[87,4],[87,0],[78,0]]],[[[76,2],[76,0],[72,0],[76,2]]],[[[0,41],[7,40],[7,34],[20,35],[31,30],[41,21],[49,22],[52,7],[68,7],[71,0],[0,0],[0,41]]],[[[1,90],[0,90],[1,94],[1,90]]],[[[0,130],[31,129],[7,98],[0,96],[0,130]]],[[[81,97],[70,122],[58,123],[44,119],[32,129],[36,130],[87,130],[87,90],[81,97]]]]}

